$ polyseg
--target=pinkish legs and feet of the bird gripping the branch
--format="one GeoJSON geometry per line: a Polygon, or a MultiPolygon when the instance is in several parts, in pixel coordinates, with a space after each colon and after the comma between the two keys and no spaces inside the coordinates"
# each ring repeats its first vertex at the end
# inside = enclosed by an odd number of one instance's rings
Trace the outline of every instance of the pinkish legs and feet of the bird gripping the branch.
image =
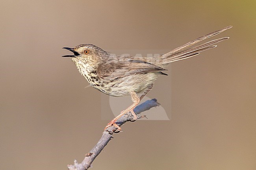
{"type": "Polygon", "coordinates": [[[131,112],[132,115],[134,116],[134,120],[138,119],[137,115],[134,112],[134,108],[139,104],[140,99],[139,96],[134,92],[131,91],[130,95],[132,97],[132,101],[134,102],[131,106],[129,106],[126,110],[122,111],[120,115],[118,115],[117,117],[115,117],[115,119],[113,119],[112,121],[110,121],[108,123],[108,125],[105,127],[105,130],[110,127],[110,126],[115,126],[117,128],[117,130],[121,130],[121,128],[115,123],[120,117],[122,117],[122,115],[124,115],[127,112],[131,112]]]}

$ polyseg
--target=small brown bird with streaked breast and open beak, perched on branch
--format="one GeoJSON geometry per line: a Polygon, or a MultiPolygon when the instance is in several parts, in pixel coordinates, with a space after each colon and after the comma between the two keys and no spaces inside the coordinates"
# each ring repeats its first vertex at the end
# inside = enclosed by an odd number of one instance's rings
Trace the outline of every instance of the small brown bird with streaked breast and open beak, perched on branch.
{"type": "Polygon", "coordinates": [[[230,28],[232,26],[197,38],[156,57],[113,56],[93,44],[81,44],[74,48],[64,47],[64,49],[72,51],[74,55],[65,55],[63,57],[71,57],[82,76],[97,90],[114,97],[131,95],[134,103],[106,126],[108,128],[114,125],[118,130],[121,130],[115,122],[127,112],[131,112],[134,115],[134,120],[137,119],[134,108],[152,89],[158,75],[167,75],[162,72],[167,70],[165,69],[167,64],[194,57],[202,51],[217,47],[213,44],[227,40],[229,37],[219,38],[187,49],[230,28]],[[141,97],[138,94],[141,94],[141,97]]]}

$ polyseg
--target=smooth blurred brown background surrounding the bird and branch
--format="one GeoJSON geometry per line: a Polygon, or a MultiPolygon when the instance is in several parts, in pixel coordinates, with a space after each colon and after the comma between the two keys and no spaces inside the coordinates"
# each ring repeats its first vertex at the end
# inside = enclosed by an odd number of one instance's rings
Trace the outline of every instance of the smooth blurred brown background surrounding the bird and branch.
{"type": "Polygon", "coordinates": [[[62,47],[158,53],[229,25],[216,36],[229,40],[171,64],[148,94],[171,120],[127,123],[91,169],[256,169],[255,9],[254,0],[1,1],[0,169],[67,169],[108,123],[101,93],[85,88],[62,47]]]}

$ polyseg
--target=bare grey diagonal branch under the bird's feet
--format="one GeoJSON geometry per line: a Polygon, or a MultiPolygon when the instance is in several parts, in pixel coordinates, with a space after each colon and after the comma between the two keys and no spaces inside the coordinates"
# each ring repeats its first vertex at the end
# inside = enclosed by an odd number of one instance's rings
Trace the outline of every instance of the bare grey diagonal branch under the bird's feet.
{"type": "MultiPolygon", "coordinates": [[[[156,99],[145,101],[144,103],[140,104],[134,109],[134,112],[137,114],[138,119],[141,119],[145,116],[140,115],[141,112],[149,110],[152,107],[159,106],[160,104],[156,101],[156,99]]],[[[125,122],[133,121],[132,114],[126,113],[120,119],[117,120],[119,126],[122,126],[125,122]]],[[[68,165],[69,170],[87,170],[91,164],[93,163],[94,159],[100,154],[103,148],[108,144],[111,140],[113,133],[117,130],[114,126],[110,126],[107,128],[98,143],[93,147],[93,149],[85,155],[82,163],[78,163],[78,161],[74,160],[74,165],[68,165]]]]}

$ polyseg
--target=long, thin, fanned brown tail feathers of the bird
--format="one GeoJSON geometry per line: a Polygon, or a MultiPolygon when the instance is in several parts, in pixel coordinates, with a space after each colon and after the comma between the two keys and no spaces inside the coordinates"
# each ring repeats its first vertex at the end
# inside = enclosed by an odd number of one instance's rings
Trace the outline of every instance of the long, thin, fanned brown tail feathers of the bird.
{"type": "Polygon", "coordinates": [[[193,48],[186,49],[202,40],[213,37],[213,36],[215,36],[219,33],[222,33],[223,31],[226,31],[227,29],[230,29],[230,28],[232,28],[232,26],[225,27],[225,28],[215,31],[213,33],[207,34],[203,37],[197,38],[196,40],[190,41],[187,44],[184,44],[183,46],[180,46],[166,54],[160,55],[161,64],[169,64],[174,61],[184,60],[186,58],[194,57],[194,56],[200,54],[200,52],[202,52],[202,51],[206,51],[208,49],[217,47],[216,45],[213,46],[213,44],[227,40],[229,37],[219,38],[216,40],[206,42],[204,44],[200,44],[193,48]]]}

